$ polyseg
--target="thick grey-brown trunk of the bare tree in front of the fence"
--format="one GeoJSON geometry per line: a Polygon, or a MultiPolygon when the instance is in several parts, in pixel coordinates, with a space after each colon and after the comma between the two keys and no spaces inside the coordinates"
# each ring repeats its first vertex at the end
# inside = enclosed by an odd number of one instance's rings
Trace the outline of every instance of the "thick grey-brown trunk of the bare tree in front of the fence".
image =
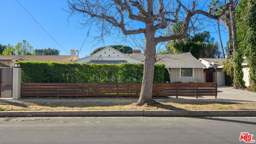
{"type": "Polygon", "coordinates": [[[145,62],[143,70],[143,80],[140,91],[140,98],[136,105],[141,106],[147,103],[153,104],[152,90],[153,90],[153,78],[154,67],[156,62],[156,44],[154,38],[155,32],[150,30],[145,34],[145,62]]]}

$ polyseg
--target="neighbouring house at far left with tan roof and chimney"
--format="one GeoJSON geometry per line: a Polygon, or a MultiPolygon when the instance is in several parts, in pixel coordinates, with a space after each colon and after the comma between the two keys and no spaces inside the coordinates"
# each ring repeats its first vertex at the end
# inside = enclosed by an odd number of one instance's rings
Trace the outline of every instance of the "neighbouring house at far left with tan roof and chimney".
{"type": "Polygon", "coordinates": [[[76,51],[70,50],[70,53],[70,55],[0,55],[0,67],[11,68],[18,61],[72,62],[77,59],[76,51]]]}

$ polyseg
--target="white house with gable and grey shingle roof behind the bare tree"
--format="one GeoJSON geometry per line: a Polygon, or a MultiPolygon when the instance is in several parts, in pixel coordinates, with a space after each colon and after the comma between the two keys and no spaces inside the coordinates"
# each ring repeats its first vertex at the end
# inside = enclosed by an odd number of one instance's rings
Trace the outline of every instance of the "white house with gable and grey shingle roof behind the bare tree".
{"type": "MultiPolygon", "coordinates": [[[[81,63],[143,63],[145,55],[140,50],[133,50],[132,54],[124,54],[107,46],[101,51],[87,57],[77,59],[74,62],[81,63]]],[[[157,63],[164,63],[166,73],[169,78],[165,81],[169,83],[188,83],[204,81],[203,68],[205,66],[199,62],[190,52],[180,54],[158,54],[157,63]]]]}

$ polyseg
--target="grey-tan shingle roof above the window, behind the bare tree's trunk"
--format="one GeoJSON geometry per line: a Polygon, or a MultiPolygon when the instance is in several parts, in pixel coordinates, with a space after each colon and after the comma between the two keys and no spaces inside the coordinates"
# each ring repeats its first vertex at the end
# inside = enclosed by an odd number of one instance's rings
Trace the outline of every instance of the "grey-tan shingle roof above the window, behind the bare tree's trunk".
{"type": "MultiPolygon", "coordinates": [[[[129,54],[131,57],[143,59],[143,54],[129,54]]],[[[205,68],[190,52],[179,54],[157,54],[157,63],[164,63],[166,68],[205,68]]]]}

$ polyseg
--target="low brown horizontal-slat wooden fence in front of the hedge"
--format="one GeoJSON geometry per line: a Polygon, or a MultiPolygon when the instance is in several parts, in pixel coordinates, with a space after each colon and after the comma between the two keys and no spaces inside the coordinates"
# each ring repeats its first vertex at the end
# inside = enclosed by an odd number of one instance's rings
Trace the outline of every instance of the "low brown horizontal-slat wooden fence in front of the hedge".
{"type": "MultiPolygon", "coordinates": [[[[21,97],[139,97],[141,83],[21,83],[21,97]]],[[[215,96],[216,83],[154,83],[153,97],[215,96]]]]}

